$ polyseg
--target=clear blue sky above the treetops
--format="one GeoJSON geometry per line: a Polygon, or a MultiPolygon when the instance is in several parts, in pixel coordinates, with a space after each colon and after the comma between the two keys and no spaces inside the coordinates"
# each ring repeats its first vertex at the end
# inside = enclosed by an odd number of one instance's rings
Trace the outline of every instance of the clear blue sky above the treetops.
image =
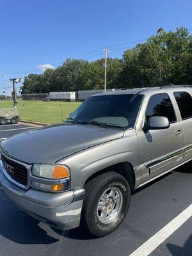
{"type": "Polygon", "coordinates": [[[1,0],[0,94],[4,72],[10,79],[66,58],[92,61],[102,47],[121,58],[160,27],[192,31],[191,10],[191,0],[1,0]]]}

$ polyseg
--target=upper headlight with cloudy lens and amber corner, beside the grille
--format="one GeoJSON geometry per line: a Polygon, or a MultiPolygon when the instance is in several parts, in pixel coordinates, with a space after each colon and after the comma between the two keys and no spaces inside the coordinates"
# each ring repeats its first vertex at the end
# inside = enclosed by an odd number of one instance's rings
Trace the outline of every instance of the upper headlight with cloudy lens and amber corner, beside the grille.
{"type": "Polygon", "coordinates": [[[68,167],[61,164],[33,164],[32,174],[46,179],[65,179],[70,177],[68,167]]]}

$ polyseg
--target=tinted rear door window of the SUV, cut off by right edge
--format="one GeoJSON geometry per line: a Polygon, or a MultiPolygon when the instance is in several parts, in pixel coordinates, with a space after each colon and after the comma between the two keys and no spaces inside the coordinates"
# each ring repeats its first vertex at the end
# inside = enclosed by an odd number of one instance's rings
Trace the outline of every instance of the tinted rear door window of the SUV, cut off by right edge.
{"type": "Polygon", "coordinates": [[[192,117],[192,98],[187,92],[174,92],[175,99],[179,106],[180,115],[183,119],[192,117]]]}

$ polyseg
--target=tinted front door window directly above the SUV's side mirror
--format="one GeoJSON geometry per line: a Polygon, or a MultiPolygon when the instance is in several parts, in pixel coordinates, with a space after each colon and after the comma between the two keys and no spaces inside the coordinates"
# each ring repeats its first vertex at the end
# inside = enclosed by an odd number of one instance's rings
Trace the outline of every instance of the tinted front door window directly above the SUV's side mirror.
{"type": "Polygon", "coordinates": [[[172,102],[166,93],[159,93],[150,97],[145,115],[147,122],[151,116],[165,116],[170,123],[177,121],[172,102]]]}

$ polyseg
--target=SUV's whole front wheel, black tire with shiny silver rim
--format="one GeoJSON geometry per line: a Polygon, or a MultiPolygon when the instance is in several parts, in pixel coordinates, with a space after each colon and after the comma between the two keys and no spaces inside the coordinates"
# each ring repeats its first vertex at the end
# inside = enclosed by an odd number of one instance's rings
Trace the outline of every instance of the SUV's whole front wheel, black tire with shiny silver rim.
{"type": "Polygon", "coordinates": [[[127,214],[131,200],[129,183],[116,172],[106,172],[89,180],[84,189],[81,225],[93,236],[107,236],[127,214]]]}

